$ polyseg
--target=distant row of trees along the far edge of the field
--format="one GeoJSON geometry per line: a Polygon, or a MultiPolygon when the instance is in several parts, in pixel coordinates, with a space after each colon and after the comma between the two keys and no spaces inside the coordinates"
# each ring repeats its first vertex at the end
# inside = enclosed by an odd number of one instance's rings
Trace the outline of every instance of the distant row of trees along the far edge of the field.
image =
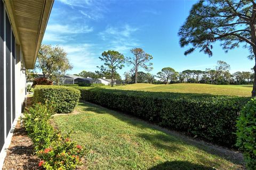
{"type": "MultiPolygon", "coordinates": [[[[138,72],[138,83],[171,84],[171,83],[204,83],[204,84],[252,84],[253,72],[229,72],[226,62],[218,61],[214,69],[184,70],[177,72],[171,67],[164,67],[156,75],[138,72]]],[[[134,83],[134,73],[125,72],[125,83],[134,83]]]]}

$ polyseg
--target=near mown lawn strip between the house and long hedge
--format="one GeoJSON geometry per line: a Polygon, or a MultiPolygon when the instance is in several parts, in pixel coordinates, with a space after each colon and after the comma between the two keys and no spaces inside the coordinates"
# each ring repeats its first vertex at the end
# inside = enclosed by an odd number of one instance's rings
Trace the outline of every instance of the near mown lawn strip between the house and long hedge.
{"type": "Polygon", "coordinates": [[[83,169],[243,169],[241,158],[97,105],[53,121],[86,148],[83,169]]]}

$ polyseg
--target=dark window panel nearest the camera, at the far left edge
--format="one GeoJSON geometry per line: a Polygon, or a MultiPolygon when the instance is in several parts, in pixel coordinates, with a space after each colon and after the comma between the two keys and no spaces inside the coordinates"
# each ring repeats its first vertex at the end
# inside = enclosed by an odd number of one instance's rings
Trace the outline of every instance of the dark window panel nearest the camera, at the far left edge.
{"type": "Polygon", "coordinates": [[[4,4],[0,1],[0,150],[4,146],[4,4]]]}

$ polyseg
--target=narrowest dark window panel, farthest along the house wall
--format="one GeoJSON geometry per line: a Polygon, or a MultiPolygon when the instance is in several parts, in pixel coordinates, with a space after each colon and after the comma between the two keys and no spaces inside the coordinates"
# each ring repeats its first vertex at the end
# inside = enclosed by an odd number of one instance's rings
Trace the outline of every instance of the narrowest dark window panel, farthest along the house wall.
{"type": "Polygon", "coordinates": [[[15,37],[12,32],[12,122],[15,119],[15,37]]]}

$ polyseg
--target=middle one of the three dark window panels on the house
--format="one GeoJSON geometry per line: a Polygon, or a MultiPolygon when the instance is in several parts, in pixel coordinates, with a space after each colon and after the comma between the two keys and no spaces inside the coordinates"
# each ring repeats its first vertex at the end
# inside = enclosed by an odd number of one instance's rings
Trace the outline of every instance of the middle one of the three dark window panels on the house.
{"type": "Polygon", "coordinates": [[[6,135],[11,129],[11,24],[5,13],[6,35],[6,135]]]}

